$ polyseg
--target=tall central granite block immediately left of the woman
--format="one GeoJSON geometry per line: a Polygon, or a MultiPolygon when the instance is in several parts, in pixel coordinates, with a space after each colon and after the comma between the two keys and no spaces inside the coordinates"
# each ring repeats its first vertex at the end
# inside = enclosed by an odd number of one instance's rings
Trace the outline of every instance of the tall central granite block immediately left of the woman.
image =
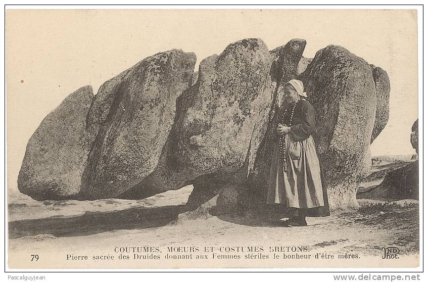
{"type": "Polygon", "coordinates": [[[202,60],[197,82],[177,100],[163,165],[120,197],[144,198],[189,183],[195,186],[193,195],[199,195],[211,191],[208,184],[245,179],[266,130],[271,65],[267,46],[255,38],[202,60]]]}

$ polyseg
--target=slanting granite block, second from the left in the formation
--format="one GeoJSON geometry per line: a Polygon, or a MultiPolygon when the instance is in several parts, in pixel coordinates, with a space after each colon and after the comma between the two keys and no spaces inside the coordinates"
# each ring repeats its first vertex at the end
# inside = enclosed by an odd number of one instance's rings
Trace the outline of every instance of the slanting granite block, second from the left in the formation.
{"type": "Polygon", "coordinates": [[[83,199],[116,197],[155,171],[195,63],[193,53],[158,53],[100,87],[87,119],[98,133],[83,174],[83,199]]]}

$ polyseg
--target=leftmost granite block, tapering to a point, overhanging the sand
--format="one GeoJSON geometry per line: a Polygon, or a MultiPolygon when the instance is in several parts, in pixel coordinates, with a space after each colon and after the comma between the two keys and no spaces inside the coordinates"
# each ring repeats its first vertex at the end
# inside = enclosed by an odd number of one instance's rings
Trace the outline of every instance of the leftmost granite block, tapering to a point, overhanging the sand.
{"type": "Polygon", "coordinates": [[[69,199],[81,178],[93,136],[86,130],[92,87],[71,93],[40,123],[27,144],[18,189],[36,200],[69,199]]]}

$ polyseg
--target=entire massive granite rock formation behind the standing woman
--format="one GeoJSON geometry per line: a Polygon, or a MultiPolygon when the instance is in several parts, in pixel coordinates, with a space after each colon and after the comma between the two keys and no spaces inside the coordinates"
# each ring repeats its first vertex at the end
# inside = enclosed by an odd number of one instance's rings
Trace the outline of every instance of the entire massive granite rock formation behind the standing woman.
{"type": "Polygon", "coordinates": [[[266,206],[282,100],[277,84],[299,78],[317,111],[314,138],[330,207],[357,206],[356,188],[371,164],[370,143],[388,120],[388,75],[335,45],[306,59],[305,45],[293,39],[269,52],[260,39],[240,40],[204,59],[197,73],[195,55],[179,50],[142,60],[105,82],[92,101],[91,94],[84,104],[72,101],[78,108],[73,114],[54,111],[81,124],[70,127],[72,137],[63,134],[59,121],[34,133],[21,169],[21,191],[42,199],[141,199],[194,184],[192,208],[210,199],[228,208],[266,206]],[[41,161],[33,165],[43,150],[32,144],[46,142],[43,138],[55,152],[63,142],[70,148],[82,144],[70,149],[81,160],[72,174],[76,181],[56,180],[71,175],[64,168],[45,173],[41,161]],[[27,184],[49,177],[53,180],[36,188],[27,184]]]}

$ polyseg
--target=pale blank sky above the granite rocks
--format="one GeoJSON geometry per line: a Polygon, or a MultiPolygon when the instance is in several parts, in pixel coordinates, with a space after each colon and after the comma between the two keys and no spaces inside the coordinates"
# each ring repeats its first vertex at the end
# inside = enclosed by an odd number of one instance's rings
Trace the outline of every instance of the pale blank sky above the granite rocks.
{"type": "Polygon", "coordinates": [[[418,117],[416,10],[9,10],[6,13],[8,183],[28,139],[71,92],[100,85],[161,51],[200,61],[229,43],[261,38],[269,50],[306,39],[304,57],[341,45],[390,77],[390,118],[372,156],[415,151],[418,117]]]}

